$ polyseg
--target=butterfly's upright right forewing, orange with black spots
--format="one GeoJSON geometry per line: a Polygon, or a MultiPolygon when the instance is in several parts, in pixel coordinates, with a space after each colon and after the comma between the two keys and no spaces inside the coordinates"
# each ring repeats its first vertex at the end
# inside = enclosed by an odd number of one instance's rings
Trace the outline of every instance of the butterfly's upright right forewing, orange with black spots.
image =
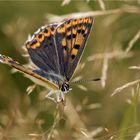
{"type": "Polygon", "coordinates": [[[60,66],[67,80],[70,80],[75,71],[92,24],[93,17],[86,17],[67,20],[56,28],[55,40],[58,45],[60,66]]]}

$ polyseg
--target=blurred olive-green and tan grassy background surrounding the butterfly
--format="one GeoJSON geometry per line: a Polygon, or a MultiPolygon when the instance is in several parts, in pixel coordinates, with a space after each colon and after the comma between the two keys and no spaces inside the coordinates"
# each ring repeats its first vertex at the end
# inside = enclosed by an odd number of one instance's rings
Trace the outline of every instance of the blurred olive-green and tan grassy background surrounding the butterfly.
{"type": "Polygon", "coordinates": [[[138,82],[111,97],[140,77],[139,67],[129,69],[140,65],[139,0],[1,1],[0,53],[26,64],[22,46],[28,35],[73,13],[95,17],[79,67],[86,65],[76,76],[101,77],[101,83],[71,85],[63,108],[44,99],[42,87],[27,95],[33,83],[0,64],[0,139],[140,139],[138,82]]]}

